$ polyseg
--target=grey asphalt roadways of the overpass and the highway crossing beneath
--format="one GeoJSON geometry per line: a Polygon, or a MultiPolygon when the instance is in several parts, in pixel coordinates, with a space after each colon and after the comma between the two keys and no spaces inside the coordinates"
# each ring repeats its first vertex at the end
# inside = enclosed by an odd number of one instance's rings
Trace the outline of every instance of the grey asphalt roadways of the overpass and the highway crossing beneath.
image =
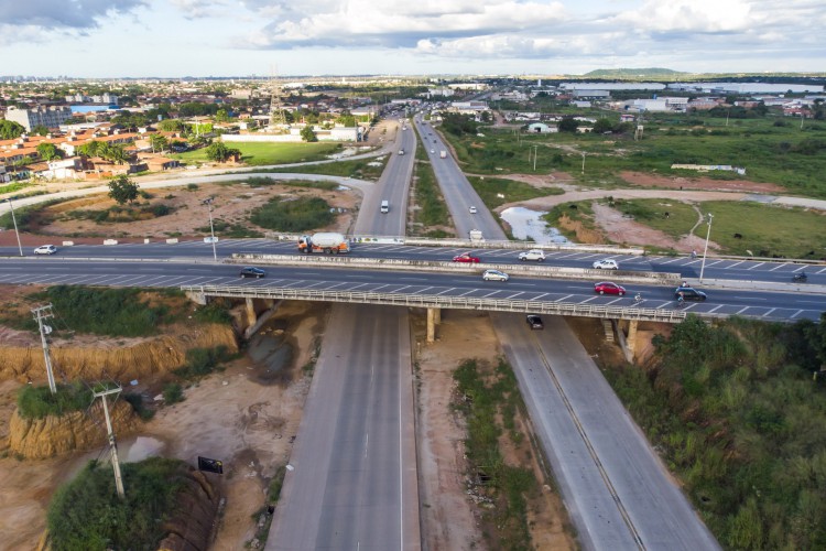
{"type": "MultiPolygon", "coordinates": [[[[421,125],[416,122],[416,125],[421,125]]],[[[425,137],[434,171],[459,235],[482,229],[503,238],[441,137],[428,125],[425,137]],[[434,142],[433,140],[436,140],[434,142]],[[434,150],[431,153],[431,149],[434,150]],[[468,212],[469,204],[479,208],[468,212]]],[[[374,191],[366,193],[357,234],[403,235],[407,186],[415,153],[411,126],[396,134],[398,149],[374,191]],[[389,215],[379,203],[391,203],[389,215]]],[[[57,244],[59,245],[59,244],[57,244]]],[[[293,255],[294,244],[222,240],[221,258],[232,252],[293,255]]],[[[449,261],[468,249],[357,245],[352,256],[449,261]]],[[[474,250],[474,249],[471,249],[474,250]]],[[[518,263],[514,250],[476,249],[482,262],[518,263]]],[[[475,273],[399,273],[365,269],[269,267],[262,280],[238,279],[238,267],[214,263],[203,242],[75,246],[50,258],[15,258],[0,248],[2,283],[68,283],[130,287],[285,285],[380,289],[383,292],[518,295],[521,299],[628,303],[629,296],[599,296],[593,282],[514,277],[483,282],[475,273]],[[94,260],[88,260],[94,259],[94,260]],[[119,259],[119,260],[112,260],[119,259]]],[[[561,250],[545,264],[590,267],[606,255],[561,250]]],[[[613,256],[622,271],[680,273],[696,283],[699,260],[685,257],[613,256]]],[[[737,281],[737,289],[706,289],[715,310],[767,318],[812,318],[826,311],[823,294],[802,293],[826,283],[824,267],[807,267],[808,288],[791,284],[800,266],[713,259],[704,281],[737,281]],[[756,288],[765,288],[760,290],[756,288]],[[749,289],[751,288],[751,290],[749,289]]],[[[621,281],[620,274],[605,279],[621,281]]],[[[628,284],[646,307],[673,307],[673,289],[628,284]]],[[[537,436],[548,456],[586,549],[716,549],[685,497],[669,478],[593,360],[561,320],[546,320],[542,334],[526,331],[514,314],[493,314],[497,334],[517,372],[537,436]],[[551,331],[548,331],[551,329],[551,331]]],[[[327,324],[305,415],[291,457],[282,505],[267,549],[420,549],[415,489],[415,441],[411,392],[411,347],[403,309],[336,305],[327,324]]]]}

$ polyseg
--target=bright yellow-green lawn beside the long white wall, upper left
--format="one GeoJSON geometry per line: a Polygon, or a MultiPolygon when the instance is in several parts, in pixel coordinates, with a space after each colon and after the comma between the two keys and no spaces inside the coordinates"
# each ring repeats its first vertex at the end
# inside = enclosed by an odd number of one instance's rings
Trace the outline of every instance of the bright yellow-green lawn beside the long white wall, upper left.
{"type": "MultiPolygon", "coordinates": [[[[264,164],[291,164],[309,161],[324,161],[327,155],[341,149],[338,143],[267,143],[267,142],[231,142],[232,149],[241,152],[241,161],[250,166],[264,164]]],[[[207,149],[202,148],[184,153],[171,154],[187,163],[207,162],[207,149]]]]}

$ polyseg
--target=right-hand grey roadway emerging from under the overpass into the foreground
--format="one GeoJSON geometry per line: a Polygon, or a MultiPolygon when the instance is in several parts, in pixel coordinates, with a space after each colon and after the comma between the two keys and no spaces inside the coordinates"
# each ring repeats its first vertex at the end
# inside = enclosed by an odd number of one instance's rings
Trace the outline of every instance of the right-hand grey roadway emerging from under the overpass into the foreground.
{"type": "Polygon", "coordinates": [[[562,317],[492,314],[586,549],[720,549],[562,317]]]}

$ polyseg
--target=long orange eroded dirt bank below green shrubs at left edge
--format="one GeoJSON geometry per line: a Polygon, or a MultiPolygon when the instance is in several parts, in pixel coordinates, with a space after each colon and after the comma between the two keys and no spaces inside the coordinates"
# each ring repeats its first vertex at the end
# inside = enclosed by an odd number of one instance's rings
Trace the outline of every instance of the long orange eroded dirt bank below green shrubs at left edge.
{"type": "MultiPolygon", "coordinates": [[[[100,339],[106,341],[106,339],[100,339]]],[[[186,361],[192,348],[226,346],[238,350],[236,335],[227,325],[180,326],[171,335],[126,344],[126,341],[72,346],[70,342],[50,348],[55,379],[70,381],[112,378],[140,379],[163,375],[186,361]],[[174,335],[174,336],[173,336],[174,335]]],[[[46,380],[43,348],[37,345],[0,348],[0,380],[42,383],[46,380]]]]}

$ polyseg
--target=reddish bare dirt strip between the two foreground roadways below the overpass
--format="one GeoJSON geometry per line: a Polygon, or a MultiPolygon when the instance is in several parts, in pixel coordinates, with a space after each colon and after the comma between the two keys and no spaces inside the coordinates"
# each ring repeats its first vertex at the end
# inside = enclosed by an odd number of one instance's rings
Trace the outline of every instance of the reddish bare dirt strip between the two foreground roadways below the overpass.
{"type": "MultiPolygon", "coordinates": [[[[420,443],[420,497],[424,539],[432,550],[488,549],[480,539],[479,511],[468,495],[465,458],[465,424],[453,408],[456,383],[453,371],[463,360],[496,364],[502,350],[486,313],[443,311],[435,343],[424,338],[424,320],[415,322],[417,342],[417,441],[420,443]]],[[[530,421],[519,420],[520,430],[530,432],[530,421]]],[[[506,439],[507,440],[507,439],[506,439]]],[[[563,551],[576,549],[566,531],[567,515],[559,496],[551,489],[535,453],[503,447],[504,460],[534,472],[542,484],[541,496],[529,504],[533,549],[563,551]]]]}

